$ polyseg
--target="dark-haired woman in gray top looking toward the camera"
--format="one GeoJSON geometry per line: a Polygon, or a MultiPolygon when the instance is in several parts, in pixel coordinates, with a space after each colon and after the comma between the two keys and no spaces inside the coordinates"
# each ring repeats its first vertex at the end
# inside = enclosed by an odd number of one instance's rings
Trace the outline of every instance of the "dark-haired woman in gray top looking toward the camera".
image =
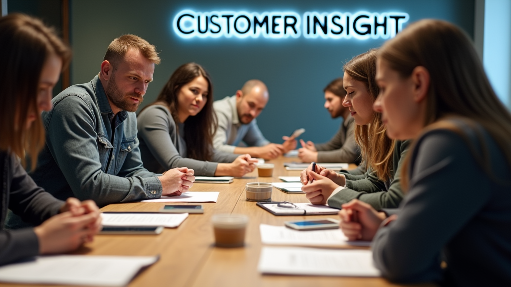
{"type": "Polygon", "coordinates": [[[137,123],[144,167],[155,173],[187,166],[199,176],[241,177],[257,162],[250,155],[213,150],[213,85],[196,63],[174,71],[156,102],[138,114],[137,123]]]}

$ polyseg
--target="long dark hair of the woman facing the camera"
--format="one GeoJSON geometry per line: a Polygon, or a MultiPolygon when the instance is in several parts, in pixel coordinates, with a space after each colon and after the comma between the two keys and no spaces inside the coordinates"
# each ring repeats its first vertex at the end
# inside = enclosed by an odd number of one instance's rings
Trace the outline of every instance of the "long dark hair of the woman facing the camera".
{"type": "MultiPolygon", "coordinates": [[[[187,126],[187,131],[182,132],[184,132],[183,138],[187,143],[187,157],[211,161],[213,157],[213,135],[217,129],[217,117],[213,111],[213,84],[211,77],[201,65],[187,63],[178,67],[159,93],[156,102],[152,105],[166,105],[174,118],[174,122],[179,123],[179,91],[184,85],[200,76],[204,77],[207,81],[206,104],[198,114],[189,116],[184,121],[184,124],[187,126]]],[[[177,128],[177,132],[180,132],[179,128],[177,128]]]]}

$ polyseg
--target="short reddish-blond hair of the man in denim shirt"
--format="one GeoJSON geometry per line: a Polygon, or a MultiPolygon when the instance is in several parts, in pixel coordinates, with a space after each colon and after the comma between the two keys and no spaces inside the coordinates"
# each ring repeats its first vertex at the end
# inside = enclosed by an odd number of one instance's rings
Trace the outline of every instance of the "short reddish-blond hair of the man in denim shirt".
{"type": "Polygon", "coordinates": [[[103,61],[108,61],[113,64],[113,68],[115,69],[115,64],[119,63],[126,55],[128,50],[137,49],[148,59],[149,61],[155,63],[156,65],[160,63],[160,58],[158,57],[158,52],[156,51],[156,46],[149,44],[148,41],[132,34],[122,35],[119,38],[115,38],[109,45],[106,50],[105,57],[103,61]]]}

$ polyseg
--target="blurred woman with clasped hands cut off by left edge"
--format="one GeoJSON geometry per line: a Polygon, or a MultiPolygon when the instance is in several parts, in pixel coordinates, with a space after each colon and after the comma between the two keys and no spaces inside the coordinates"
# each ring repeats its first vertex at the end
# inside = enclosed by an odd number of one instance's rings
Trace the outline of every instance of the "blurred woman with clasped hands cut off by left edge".
{"type": "Polygon", "coordinates": [[[71,51],[54,31],[27,15],[0,18],[0,265],[38,254],[76,249],[101,228],[93,201],[66,202],[38,187],[21,166],[36,165],[44,145],[41,112],[71,51]],[[35,228],[4,230],[7,210],[35,228]],[[60,214],[58,214],[60,213],[60,214]]]}

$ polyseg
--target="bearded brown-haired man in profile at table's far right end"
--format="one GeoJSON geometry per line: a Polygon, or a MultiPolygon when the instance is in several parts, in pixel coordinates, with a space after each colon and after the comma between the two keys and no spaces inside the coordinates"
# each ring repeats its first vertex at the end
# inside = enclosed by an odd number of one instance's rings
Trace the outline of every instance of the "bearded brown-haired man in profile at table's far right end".
{"type": "Polygon", "coordinates": [[[342,78],[333,80],[324,92],[324,108],[328,109],[332,118],[341,116],[343,122],[337,134],[329,142],[314,145],[300,139],[302,148],[298,150],[298,157],[304,162],[354,162],[360,163],[360,148],[355,142],[353,131],[355,120],[350,109],[342,106],[346,91],[342,85],[342,78]]]}

